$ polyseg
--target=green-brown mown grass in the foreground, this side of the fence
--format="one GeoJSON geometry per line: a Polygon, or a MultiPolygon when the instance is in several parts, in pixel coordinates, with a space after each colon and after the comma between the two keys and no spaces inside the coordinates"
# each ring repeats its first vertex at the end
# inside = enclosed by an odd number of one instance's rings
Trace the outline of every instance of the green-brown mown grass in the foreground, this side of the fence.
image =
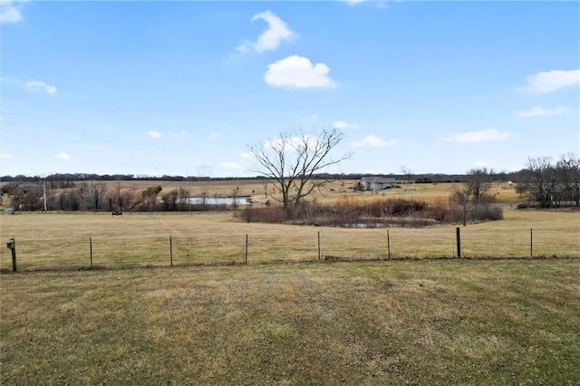
{"type": "Polygon", "coordinates": [[[2,275],[2,383],[580,383],[580,260],[2,275]]]}

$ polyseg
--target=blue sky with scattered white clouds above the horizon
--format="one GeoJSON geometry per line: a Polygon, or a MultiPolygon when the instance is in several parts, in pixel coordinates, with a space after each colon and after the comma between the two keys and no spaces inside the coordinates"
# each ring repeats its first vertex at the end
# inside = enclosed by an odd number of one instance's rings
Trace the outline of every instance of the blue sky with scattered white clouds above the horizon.
{"type": "Polygon", "coordinates": [[[0,175],[516,171],[580,149],[580,3],[0,0],[0,175]]]}

